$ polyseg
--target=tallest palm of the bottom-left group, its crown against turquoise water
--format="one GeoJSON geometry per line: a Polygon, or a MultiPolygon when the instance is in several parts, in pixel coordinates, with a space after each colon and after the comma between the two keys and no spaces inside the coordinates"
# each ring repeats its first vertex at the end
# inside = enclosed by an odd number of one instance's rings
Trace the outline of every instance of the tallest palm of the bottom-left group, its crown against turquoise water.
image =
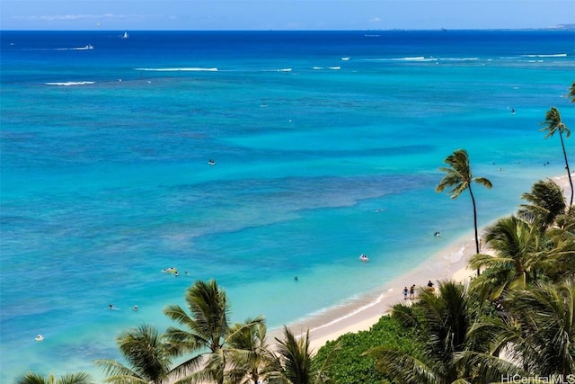
{"type": "Polygon", "coordinates": [[[187,328],[170,326],[166,330],[170,353],[174,357],[192,355],[175,367],[173,374],[178,378],[211,380],[222,384],[226,379],[229,355],[233,352],[233,348],[229,347],[229,338],[241,332],[243,327],[263,324],[264,318],[256,317],[243,326],[231,329],[226,291],[220,290],[214,280],[194,282],[186,291],[185,300],[190,314],[177,305],[164,308],[167,317],[187,328]]]}

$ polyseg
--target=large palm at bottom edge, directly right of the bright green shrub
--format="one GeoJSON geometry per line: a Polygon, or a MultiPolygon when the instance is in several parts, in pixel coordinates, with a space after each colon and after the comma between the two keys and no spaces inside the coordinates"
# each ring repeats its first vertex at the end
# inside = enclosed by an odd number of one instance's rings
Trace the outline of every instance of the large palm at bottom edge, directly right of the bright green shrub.
{"type": "Polygon", "coordinates": [[[481,367],[460,357],[470,351],[480,355],[488,352],[468,337],[475,313],[482,310],[473,308],[473,302],[476,300],[467,287],[456,281],[440,281],[437,295],[420,290],[418,302],[412,306],[397,304],[392,311],[393,317],[418,330],[422,345],[419,356],[385,347],[372,348],[366,354],[376,360],[378,371],[405,384],[469,383],[479,377],[499,380],[501,371],[484,371],[479,376],[481,367]]]}

